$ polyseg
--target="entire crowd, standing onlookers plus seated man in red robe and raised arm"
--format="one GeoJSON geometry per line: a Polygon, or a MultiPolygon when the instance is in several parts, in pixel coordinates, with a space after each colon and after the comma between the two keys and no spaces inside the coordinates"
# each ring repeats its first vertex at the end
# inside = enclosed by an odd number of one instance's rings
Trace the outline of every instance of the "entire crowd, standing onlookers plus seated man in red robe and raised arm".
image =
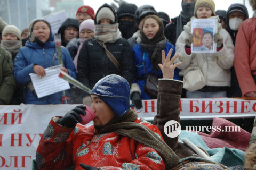
{"type": "MultiPolygon", "coordinates": [[[[88,94],[71,86],[66,90],[69,103],[92,103],[96,118],[93,126],[77,124],[86,114],[84,106],[53,117],[37,149],[40,169],[179,169],[179,159],[195,152],[186,155],[189,150],[183,148],[187,152],[179,155],[178,137],[167,138],[163,125],[179,122],[180,96],[256,97],[255,0],[250,0],[252,18],[239,3],[215,11],[213,0],[182,0],[180,15],[170,19],[154,6],[121,2],[117,10],[103,4],[96,12],[83,5],[76,18],[67,18],[58,30],[61,71],[92,89],[88,94]],[[191,49],[198,40],[191,22],[197,19],[217,23],[214,34],[205,31],[199,39],[203,53],[191,49]],[[213,44],[216,49],[208,53],[213,44]],[[195,68],[200,69],[204,86],[182,88],[182,80],[195,68]],[[159,79],[158,96],[147,89],[153,77],[159,79]],[[154,125],[139,120],[130,109],[130,100],[141,109],[141,100],[157,98],[154,125]]],[[[29,75],[44,77],[46,68],[59,64],[51,24],[34,19],[20,31],[0,19],[0,32],[0,105],[63,103],[63,92],[38,98],[29,75]]],[[[195,163],[201,165],[195,160],[191,164],[195,163]]],[[[227,168],[209,164],[201,167],[227,168]]]]}

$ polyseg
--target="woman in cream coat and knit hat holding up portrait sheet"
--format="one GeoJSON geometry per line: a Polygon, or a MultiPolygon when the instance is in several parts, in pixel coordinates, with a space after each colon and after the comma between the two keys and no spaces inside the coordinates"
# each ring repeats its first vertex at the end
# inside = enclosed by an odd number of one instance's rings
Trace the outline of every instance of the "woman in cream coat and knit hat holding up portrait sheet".
{"type": "Polygon", "coordinates": [[[191,32],[191,21],[188,22],[184,31],[177,39],[176,53],[179,54],[174,63],[182,62],[178,66],[180,75],[193,67],[201,67],[206,85],[195,91],[187,91],[187,98],[211,98],[226,97],[227,88],[230,87],[230,68],[234,62],[234,45],[229,33],[222,29],[219,17],[215,15],[215,3],[213,0],[197,0],[195,4],[194,19],[215,19],[217,20],[217,33],[214,35],[214,42],[217,44],[215,53],[191,53],[191,43],[194,36],[191,32]]]}

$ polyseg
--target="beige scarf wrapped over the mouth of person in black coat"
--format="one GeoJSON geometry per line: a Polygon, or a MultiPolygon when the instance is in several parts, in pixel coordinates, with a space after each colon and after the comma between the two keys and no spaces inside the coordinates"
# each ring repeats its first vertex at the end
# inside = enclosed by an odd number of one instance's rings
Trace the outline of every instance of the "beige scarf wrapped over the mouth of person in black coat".
{"type": "Polygon", "coordinates": [[[122,38],[122,34],[118,29],[118,23],[109,25],[95,25],[94,37],[103,42],[114,43],[119,38],[122,38]]]}

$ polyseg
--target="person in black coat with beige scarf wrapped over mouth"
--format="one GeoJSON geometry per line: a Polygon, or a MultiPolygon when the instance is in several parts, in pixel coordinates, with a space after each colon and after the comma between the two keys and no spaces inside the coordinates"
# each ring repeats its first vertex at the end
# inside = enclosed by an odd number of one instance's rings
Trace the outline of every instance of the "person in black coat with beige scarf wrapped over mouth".
{"type": "MultiPolygon", "coordinates": [[[[127,40],[122,38],[118,29],[114,8],[108,4],[102,5],[95,15],[94,23],[94,38],[84,42],[78,56],[77,80],[93,88],[94,84],[106,75],[117,74],[131,84],[132,52],[127,40]]],[[[86,95],[82,91],[79,92],[81,97],[86,95]]]]}

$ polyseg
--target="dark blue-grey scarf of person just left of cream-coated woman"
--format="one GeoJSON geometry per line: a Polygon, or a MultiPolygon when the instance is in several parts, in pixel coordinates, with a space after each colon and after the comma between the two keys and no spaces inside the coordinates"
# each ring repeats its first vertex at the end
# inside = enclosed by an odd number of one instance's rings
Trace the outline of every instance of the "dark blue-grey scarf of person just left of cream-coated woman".
{"type": "Polygon", "coordinates": [[[177,19],[177,26],[176,26],[176,40],[180,36],[181,32],[183,31],[183,26],[190,21],[190,18],[194,15],[194,8],[195,8],[196,1],[190,3],[182,3],[182,11],[177,19]]]}

